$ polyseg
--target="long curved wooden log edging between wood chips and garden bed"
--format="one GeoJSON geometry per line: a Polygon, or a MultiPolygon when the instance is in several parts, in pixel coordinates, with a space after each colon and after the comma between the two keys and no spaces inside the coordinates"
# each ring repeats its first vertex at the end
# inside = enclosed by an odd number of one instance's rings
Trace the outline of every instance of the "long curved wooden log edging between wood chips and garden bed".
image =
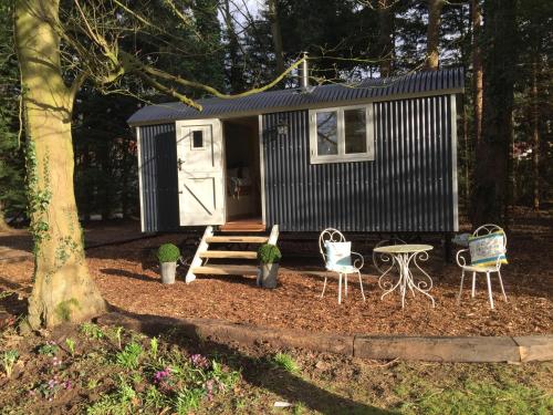
{"type": "Polygon", "coordinates": [[[212,319],[174,319],[157,315],[109,313],[98,324],[157,335],[178,330],[184,335],[222,344],[267,344],[298,347],[361,359],[428,362],[532,362],[553,361],[553,335],[526,336],[411,336],[349,335],[264,328],[212,319]]]}

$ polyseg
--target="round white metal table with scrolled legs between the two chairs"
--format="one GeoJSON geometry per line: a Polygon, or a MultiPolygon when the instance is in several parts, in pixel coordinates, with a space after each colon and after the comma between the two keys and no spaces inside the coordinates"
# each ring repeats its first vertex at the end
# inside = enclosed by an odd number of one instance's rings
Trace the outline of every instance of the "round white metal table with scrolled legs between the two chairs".
{"type": "Polygon", "coordinates": [[[374,252],[380,253],[380,259],[384,263],[389,262],[389,268],[384,271],[384,273],[378,278],[378,286],[384,290],[380,300],[385,295],[389,294],[395,290],[399,290],[401,295],[401,308],[405,307],[405,293],[409,289],[413,297],[415,297],[415,291],[418,291],[432,301],[432,307],[435,307],[434,297],[429,294],[432,288],[432,279],[428,273],[426,273],[417,260],[426,261],[428,259],[428,251],[432,249],[430,245],[390,245],[385,247],[377,247],[374,252]],[[409,269],[409,264],[414,263],[415,267],[421,272],[422,277],[417,281],[413,278],[413,272],[409,269]],[[393,279],[385,279],[388,272],[397,264],[399,271],[399,278],[397,281],[393,279]]]}

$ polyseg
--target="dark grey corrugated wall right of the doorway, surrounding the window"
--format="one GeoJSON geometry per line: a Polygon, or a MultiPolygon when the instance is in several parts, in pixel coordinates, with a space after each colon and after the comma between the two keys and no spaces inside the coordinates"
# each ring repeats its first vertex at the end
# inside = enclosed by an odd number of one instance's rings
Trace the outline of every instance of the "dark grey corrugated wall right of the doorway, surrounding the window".
{"type": "Polygon", "coordinates": [[[450,97],[374,104],[375,160],[310,164],[309,113],[263,115],[265,219],[283,231],[452,231],[450,97]],[[280,120],[289,136],[273,131],[280,120]]]}

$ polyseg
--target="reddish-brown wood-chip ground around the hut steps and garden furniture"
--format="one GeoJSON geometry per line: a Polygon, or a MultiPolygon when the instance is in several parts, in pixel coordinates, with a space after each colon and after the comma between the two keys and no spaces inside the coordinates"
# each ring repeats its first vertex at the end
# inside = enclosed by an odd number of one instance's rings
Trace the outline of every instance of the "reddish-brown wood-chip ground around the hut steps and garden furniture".
{"type": "MultiPolygon", "coordinates": [[[[173,286],[160,283],[153,251],[163,242],[174,241],[194,253],[196,236],[165,235],[132,242],[103,246],[87,250],[87,263],[105,299],[115,308],[138,314],[174,318],[210,318],[258,325],[301,329],[309,331],[411,334],[411,335],[523,335],[552,333],[553,324],[553,215],[533,214],[519,209],[508,231],[509,264],[502,268],[508,302],[501,297],[499,281],[492,278],[495,309],[488,302],[486,280],[477,280],[477,295],[470,298],[466,282],[462,302],[457,304],[460,269],[444,260],[439,240],[425,239],[436,247],[424,269],[431,276],[436,308],[421,294],[406,295],[406,307],[394,292],[380,300],[378,272],[371,263],[371,249],[376,241],[355,240],[353,250],[366,256],[363,282],[366,302],[363,302],[358,281],[352,276],[349,292],[337,303],[337,279],[328,274],[324,298],[322,260],[316,239],[279,242],[283,262],[279,286],[274,290],[255,287],[254,278],[200,276],[190,284],[184,282],[186,268],[179,268],[173,286]],[[311,255],[311,257],[309,256],[311,255]]],[[[108,241],[118,236],[136,235],[136,224],[115,225],[105,230],[94,228],[96,240],[108,241]],[[131,229],[132,227],[135,227],[131,229]]],[[[291,236],[288,236],[290,239],[291,236]]],[[[303,237],[303,236],[298,236],[303,237]]],[[[0,236],[0,245],[17,245],[9,235],[0,236]]],[[[0,320],[24,309],[24,298],[31,289],[33,263],[0,261],[0,290],[17,293],[0,300],[0,320]],[[18,300],[19,298],[19,300],[18,300]],[[3,310],[2,310],[3,309],[3,310]]]]}

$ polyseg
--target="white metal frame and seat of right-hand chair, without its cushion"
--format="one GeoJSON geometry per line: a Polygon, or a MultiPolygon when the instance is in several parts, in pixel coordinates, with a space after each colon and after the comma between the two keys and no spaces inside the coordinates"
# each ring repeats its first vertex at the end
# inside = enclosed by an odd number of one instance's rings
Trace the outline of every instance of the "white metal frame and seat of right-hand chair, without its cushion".
{"type": "MultiPolygon", "coordinates": [[[[503,253],[507,253],[507,236],[505,232],[503,231],[502,228],[500,228],[497,225],[493,224],[487,224],[482,225],[479,227],[472,234],[473,237],[478,236],[484,236],[489,235],[492,232],[501,232],[503,237],[503,253]]],[[[468,252],[468,256],[470,257],[470,249],[461,249],[460,251],[457,252],[457,264],[461,267],[462,272],[461,272],[461,287],[459,288],[459,297],[457,299],[457,303],[460,304],[461,302],[461,294],[462,294],[462,282],[465,280],[465,272],[472,272],[472,294],[471,297],[474,297],[474,291],[476,291],[476,278],[477,273],[486,273],[486,279],[488,281],[488,297],[490,299],[490,305],[493,309],[493,297],[491,292],[491,280],[490,280],[490,273],[491,272],[497,272],[498,278],[499,278],[499,284],[501,286],[501,292],[503,293],[503,298],[507,301],[507,294],[505,290],[503,288],[503,280],[501,279],[501,261],[502,258],[498,257],[497,261],[492,266],[473,266],[468,261],[468,258],[466,258],[466,255],[468,252]]]]}

